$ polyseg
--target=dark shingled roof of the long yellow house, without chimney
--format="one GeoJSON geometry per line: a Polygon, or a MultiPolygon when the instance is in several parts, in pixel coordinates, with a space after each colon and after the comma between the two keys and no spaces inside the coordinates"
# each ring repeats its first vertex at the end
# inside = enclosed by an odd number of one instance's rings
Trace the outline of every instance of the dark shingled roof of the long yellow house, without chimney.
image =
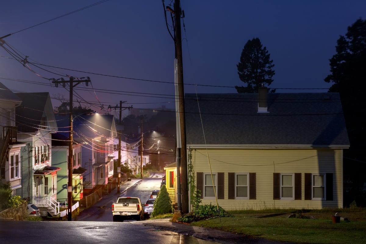
{"type": "Polygon", "coordinates": [[[349,147],[338,93],[267,95],[258,113],[257,93],[186,94],[187,146],[349,147]]]}

